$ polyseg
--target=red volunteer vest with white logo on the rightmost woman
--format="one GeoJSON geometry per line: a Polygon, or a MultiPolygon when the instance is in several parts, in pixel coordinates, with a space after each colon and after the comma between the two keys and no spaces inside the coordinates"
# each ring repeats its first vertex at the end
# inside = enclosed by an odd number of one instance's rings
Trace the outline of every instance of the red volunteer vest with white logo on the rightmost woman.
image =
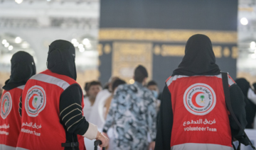
{"type": "MultiPolygon", "coordinates": [[[[231,86],[233,79],[228,76],[231,86]]],[[[231,149],[231,131],[221,74],[218,76],[171,76],[174,124],[172,149],[231,149]]]]}

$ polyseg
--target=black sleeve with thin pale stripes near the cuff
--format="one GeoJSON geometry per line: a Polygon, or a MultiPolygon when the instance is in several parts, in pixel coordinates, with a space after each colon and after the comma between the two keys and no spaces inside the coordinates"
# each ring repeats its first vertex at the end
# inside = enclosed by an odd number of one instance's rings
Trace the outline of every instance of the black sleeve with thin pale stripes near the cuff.
{"type": "Polygon", "coordinates": [[[69,86],[60,96],[60,119],[70,133],[83,135],[89,122],[82,116],[82,89],[78,84],[69,86]]]}

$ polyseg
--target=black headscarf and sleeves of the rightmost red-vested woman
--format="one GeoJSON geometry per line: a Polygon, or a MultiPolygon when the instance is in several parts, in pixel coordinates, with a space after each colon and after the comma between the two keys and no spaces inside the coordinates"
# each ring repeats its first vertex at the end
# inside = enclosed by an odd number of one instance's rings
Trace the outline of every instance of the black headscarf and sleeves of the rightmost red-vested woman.
{"type": "MultiPolygon", "coordinates": [[[[186,43],[185,56],[182,59],[178,68],[173,71],[171,76],[215,76],[220,74],[220,69],[215,64],[215,55],[210,39],[206,35],[193,35],[186,43]]],[[[235,115],[245,127],[245,110],[242,91],[238,85],[230,86],[230,99],[232,101],[233,110],[238,110],[235,115]]],[[[155,150],[169,150],[171,149],[171,131],[173,124],[173,110],[171,104],[171,93],[168,86],[164,87],[162,93],[161,106],[159,111],[159,120],[156,134],[155,150]]],[[[231,132],[233,137],[242,137],[243,132],[230,120],[231,132]]],[[[185,149],[185,148],[184,148],[185,149]]]]}

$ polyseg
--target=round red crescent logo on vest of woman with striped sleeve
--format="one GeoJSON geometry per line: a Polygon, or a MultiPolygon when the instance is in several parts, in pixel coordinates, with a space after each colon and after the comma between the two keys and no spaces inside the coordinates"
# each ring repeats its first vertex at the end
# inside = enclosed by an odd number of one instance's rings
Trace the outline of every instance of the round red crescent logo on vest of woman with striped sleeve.
{"type": "Polygon", "coordinates": [[[26,113],[31,117],[36,117],[46,107],[46,92],[41,86],[29,88],[25,99],[26,113]]]}

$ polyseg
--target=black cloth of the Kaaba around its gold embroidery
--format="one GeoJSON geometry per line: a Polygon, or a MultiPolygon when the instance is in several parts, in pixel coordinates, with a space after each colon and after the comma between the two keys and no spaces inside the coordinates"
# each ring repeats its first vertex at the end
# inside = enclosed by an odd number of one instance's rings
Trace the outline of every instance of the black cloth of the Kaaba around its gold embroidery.
{"type": "MultiPolygon", "coordinates": [[[[108,0],[100,2],[100,28],[236,31],[237,23],[238,0],[108,0]]],[[[100,41],[103,46],[108,43],[111,47],[112,42],[100,41]]],[[[152,43],[159,46],[181,44],[152,43]]],[[[231,50],[236,44],[221,44],[220,46],[229,47],[231,50]]],[[[233,59],[231,54],[230,57],[216,58],[216,62],[222,71],[228,71],[235,79],[236,59],[233,59]]],[[[164,81],[178,67],[181,59],[182,57],[162,57],[153,53],[153,79],[159,83],[160,91],[164,88],[164,81]]],[[[112,53],[103,53],[100,56],[100,62],[100,81],[106,83],[112,72],[112,53]]]]}

